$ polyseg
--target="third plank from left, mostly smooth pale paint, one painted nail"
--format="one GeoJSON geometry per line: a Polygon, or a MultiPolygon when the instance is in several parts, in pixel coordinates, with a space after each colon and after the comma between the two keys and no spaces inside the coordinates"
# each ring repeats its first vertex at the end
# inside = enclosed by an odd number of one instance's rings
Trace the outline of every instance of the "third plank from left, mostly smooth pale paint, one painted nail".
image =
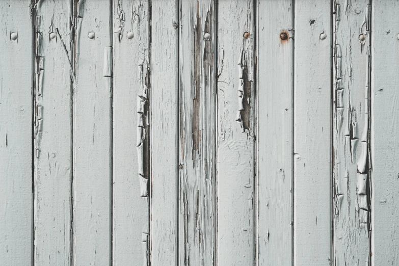
{"type": "Polygon", "coordinates": [[[110,0],[79,1],[76,7],[74,86],[75,265],[111,262],[110,0]]]}

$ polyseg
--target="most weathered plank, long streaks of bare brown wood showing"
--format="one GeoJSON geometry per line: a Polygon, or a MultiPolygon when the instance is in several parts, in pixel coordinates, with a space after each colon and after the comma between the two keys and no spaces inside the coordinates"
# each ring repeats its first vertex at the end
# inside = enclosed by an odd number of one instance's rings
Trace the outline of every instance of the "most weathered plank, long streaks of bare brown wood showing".
{"type": "Polygon", "coordinates": [[[215,261],[215,4],[180,2],[179,264],[215,261]]]}

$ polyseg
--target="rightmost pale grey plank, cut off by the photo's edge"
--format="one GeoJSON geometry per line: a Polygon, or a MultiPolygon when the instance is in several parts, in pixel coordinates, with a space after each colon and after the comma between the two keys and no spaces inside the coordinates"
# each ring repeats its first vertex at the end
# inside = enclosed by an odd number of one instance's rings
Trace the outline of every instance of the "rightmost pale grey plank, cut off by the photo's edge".
{"type": "Polygon", "coordinates": [[[372,1],[371,180],[372,265],[399,261],[399,17],[397,1],[372,1]]]}

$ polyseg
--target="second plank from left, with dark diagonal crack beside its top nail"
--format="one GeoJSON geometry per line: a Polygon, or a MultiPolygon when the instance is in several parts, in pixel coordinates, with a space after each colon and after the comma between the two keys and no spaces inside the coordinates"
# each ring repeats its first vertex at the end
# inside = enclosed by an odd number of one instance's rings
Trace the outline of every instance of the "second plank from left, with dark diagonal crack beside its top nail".
{"type": "Polygon", "coordinates": [[[41,1],[35,16],[34,264],[70,265],[71,6],[67,0],[41,1]]]}

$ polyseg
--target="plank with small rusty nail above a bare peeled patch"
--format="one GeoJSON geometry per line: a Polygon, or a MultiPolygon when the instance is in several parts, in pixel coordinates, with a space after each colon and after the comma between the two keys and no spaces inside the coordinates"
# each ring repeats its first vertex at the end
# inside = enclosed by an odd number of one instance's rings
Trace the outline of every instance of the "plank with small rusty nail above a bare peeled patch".
{"type": "Polygon", "coordinates": [[[253,265],[254,8],[221,0],[218,11],[217,264],[253,265]]]}

